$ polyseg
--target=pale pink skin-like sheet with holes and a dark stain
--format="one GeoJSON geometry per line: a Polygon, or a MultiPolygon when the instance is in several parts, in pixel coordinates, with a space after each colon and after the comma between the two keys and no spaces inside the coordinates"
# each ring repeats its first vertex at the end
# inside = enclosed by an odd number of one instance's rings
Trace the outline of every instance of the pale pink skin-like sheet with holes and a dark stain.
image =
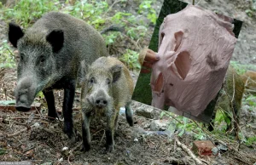
{"type": "Polygon", "coordinates": [[[188,5],[160,26],[160,60],[153,65],[152,105],[198,116],[224,82],[236,37],[232,19],[188,5]]]}

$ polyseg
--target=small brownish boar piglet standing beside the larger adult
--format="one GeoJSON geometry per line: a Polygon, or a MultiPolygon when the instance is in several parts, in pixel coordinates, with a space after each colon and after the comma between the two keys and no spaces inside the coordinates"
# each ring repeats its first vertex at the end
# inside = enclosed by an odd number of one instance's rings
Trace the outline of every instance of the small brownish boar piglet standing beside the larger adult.
{"type": "Polygon", "coordinates": [[[113,57],[101,57],[85,66],[82,84],[82,133],[84,151],[90,150],[90,120],[94,116],[107,117],[106,149],[113,151],[113,133],[117,128],[120,107],[125,106],[126,120],[133,126],[131,94],[133,82],[128,69],[113,57]]]}

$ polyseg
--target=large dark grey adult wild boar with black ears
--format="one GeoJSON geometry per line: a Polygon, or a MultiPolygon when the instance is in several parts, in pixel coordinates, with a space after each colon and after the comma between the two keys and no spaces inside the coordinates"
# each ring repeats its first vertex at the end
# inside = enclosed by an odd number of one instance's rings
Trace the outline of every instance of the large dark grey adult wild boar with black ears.
{"type": "Polygon", "coordinates": [[[80,61],[90,64],[107,55],[102,36],[83,20],[50,12],[23,32],[9,23],[9,42],[18,48],[16,109],[29,111],[36,94],[43,91],[48,116],[57,117],[54,88],[64,88],[64,132],[73,135],[72,107],[80,61]]]}

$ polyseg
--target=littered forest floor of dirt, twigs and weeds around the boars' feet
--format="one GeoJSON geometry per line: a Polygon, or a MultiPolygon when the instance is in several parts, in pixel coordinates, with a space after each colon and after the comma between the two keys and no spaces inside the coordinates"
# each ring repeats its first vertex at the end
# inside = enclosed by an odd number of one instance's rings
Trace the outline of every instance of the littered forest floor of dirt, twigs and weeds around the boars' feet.
{"type": "MultiPolygon", "coordinates": [[[[0,71],[0,83],[6,88],[0,94],[0,100],[15,100],[15,71],[5,69],[0,71]]],[[[81,147],[81,116],[79,111],[73,111],[76,142],[73,143],[63,134],[61,105],[63,91],[55,91],[55,104],[61,121],[47,120],[47,105],[42,94],[36,101],[42,103],[41,115],[37,111],[27,113],[17,111],[0,111],[0,159],[3,161],[27,160],[33,164],[49,162],[51,164],[195,164],[195,160],[180,147],[177,139],[191,148],[197,139],[211,140],[214,145],[223,145],[218,156],[200,157],[208,164],[253,164],[255,157],[255,105],[252,94],[245,94],[241,109],[240,140],[232,133],[225,133],[224,117],[219,113],[213,132],[200,122],[194,122],[185,117],[179,117],[168,111],[162,111],[160,117],[169,122],[167,130],[150,131],[152,119],[137,116],[135,127],[130,128],[122,115],[119,129],[115,135],[116,148],[113,153],[105,153],[104,121],[93,120],[91,124],[92,150],[79,151],[81,147]],[[96,122],[101,121],[101,122],[96,122]],[[23,132],[20,132],[23,131],[23,132]],[[168,134],[162,134],[168,133],[168,134]],[[225,147],[226,146],[226,147],[225,147]],[[61,151],[67,147],[67,151],[61,151]]],[[[137,111],[142,104],[133,102],[132,110],[137,111]]],[[[145,109],[148,107],[145,106],[145,109]]],[[[79,109],[79,88],[76,91],[74,109],[79,109]]]]}

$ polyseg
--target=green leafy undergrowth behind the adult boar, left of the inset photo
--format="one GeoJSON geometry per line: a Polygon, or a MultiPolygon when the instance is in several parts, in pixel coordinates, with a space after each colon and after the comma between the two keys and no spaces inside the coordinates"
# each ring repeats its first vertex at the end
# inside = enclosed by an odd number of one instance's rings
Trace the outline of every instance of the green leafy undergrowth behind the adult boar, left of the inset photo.
{"type": "MultiPolygon", "coordinates": [[[[6,7],[0,3],[0,19],[5,23],[14,21],[26,29],[45,13],[61,11],[84,20],[97,31],[102,31],[112,25],[119,26],[120,31],[111,31],[102,35],[108,46],[108,52],[110,55],[125,60],[125,64],[131,70],[139,71],[137,52],[149,43],[151,31],[157,19],[157,12],[153,7],[155,3],[156,0],[134,2],[121,0],[113,4],[96,0],[90,3],[68,0],[65,2],[20,0],[12,7],[6,7]],[[133,9],[130,11],[131,8],[133,9]]],[[[13,56],[15,53],[13,48],[7,44],[6,39],[0,48],[0,67],[12,68],[15,67],[13,56]]]]}

